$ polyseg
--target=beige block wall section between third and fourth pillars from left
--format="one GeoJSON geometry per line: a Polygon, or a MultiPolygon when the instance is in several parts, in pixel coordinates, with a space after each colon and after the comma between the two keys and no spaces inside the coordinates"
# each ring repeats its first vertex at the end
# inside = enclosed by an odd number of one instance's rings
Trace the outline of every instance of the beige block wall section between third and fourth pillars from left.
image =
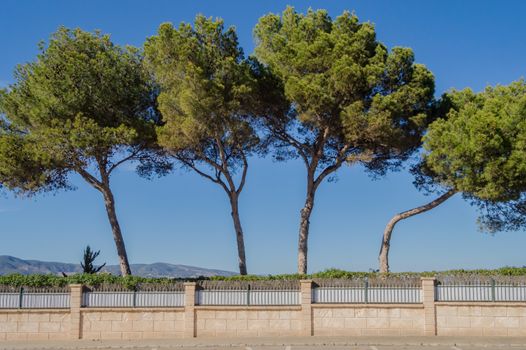
{"type": "Polygon", "coordinates": [[[421,305],[313,305],[314,335],[423,335],[421,305]]]}

